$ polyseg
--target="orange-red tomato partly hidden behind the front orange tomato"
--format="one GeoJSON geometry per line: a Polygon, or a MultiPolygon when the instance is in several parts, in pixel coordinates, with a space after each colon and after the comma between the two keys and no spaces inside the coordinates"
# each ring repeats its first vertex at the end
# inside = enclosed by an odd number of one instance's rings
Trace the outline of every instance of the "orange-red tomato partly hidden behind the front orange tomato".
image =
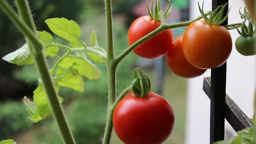
{"type": "Polygon", "coordinates": [[[167,52],[166,61],[168,67],[173,73],[184,78],[193,78],[202,75],[206,69],[193,67],[185,58],[182,48],[182,38],[183,35],[176,38],[172,43],[172,47],[167,52]]]}

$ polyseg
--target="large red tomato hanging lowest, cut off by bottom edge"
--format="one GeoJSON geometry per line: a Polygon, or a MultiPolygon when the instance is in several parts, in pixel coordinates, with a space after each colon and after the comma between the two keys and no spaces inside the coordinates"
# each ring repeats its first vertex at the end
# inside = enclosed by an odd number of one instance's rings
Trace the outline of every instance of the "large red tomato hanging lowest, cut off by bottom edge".
{"type": "Polygon", "coordinates": [[[139,98],[131,93],[117,104],[113,126],[125,144],[161,144],[173,131],[174,113],[158,94],[139,98]]]}

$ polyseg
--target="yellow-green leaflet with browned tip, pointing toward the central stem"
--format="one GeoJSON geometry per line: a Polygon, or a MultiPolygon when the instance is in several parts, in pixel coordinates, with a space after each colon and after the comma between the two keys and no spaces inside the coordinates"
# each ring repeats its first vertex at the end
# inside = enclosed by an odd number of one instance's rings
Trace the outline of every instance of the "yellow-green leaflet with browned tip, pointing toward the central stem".
{"type": "Polygon", "coordinates": [[[77,59],[73,64],[73,68],[77,69],[82,76],[86,76],[89,80],[96,80],[101,77],[98,67],[86,58],[77,59]]]}

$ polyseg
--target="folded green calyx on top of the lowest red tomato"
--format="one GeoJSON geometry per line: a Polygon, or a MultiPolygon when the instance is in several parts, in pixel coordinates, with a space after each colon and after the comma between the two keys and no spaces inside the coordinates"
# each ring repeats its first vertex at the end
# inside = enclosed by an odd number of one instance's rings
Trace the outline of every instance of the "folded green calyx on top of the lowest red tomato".
{"type": "Polygon", "coordinates": [[[134,95],[140,98],[147,98],[150,87],[149,78],[139,68],[136,68],[134,71],[134,80],[132,81],[132,92],[134,95]]]}

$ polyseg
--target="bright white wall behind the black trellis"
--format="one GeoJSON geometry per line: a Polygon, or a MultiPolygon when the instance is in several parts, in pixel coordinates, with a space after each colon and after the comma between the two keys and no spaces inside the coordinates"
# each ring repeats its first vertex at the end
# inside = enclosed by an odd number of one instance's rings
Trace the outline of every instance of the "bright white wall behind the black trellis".
{"type": "MultiPolygon", "coordinates": [[[[202,5],[203,0],[191,0],[190,18],[200,16],[197,1],[202,5]]],[[[239,8],[244,7],[243,0],[230,0],[229,24],[241,22],[239,8]]],[[[204,11],[211,10],[211,1],[204,1],[204,11]]],[[[227,94],[237,103],[242,111],[249,117],[253,115],[253,96],[256,88],[256,56],[242,56],[234,43],[239,36],[236,30],[231,30],[233,49],[227,61],[227,94]]],[[[210,143],[210,99],[203,91],[203,77],[210,76],[207,70],[203,76],[188,80],[187,93],[187,119],[185,144],[210,143]]],[[[230,139],[236,133],[231,126],[225,124],[226,138],[230,139]]]]}

